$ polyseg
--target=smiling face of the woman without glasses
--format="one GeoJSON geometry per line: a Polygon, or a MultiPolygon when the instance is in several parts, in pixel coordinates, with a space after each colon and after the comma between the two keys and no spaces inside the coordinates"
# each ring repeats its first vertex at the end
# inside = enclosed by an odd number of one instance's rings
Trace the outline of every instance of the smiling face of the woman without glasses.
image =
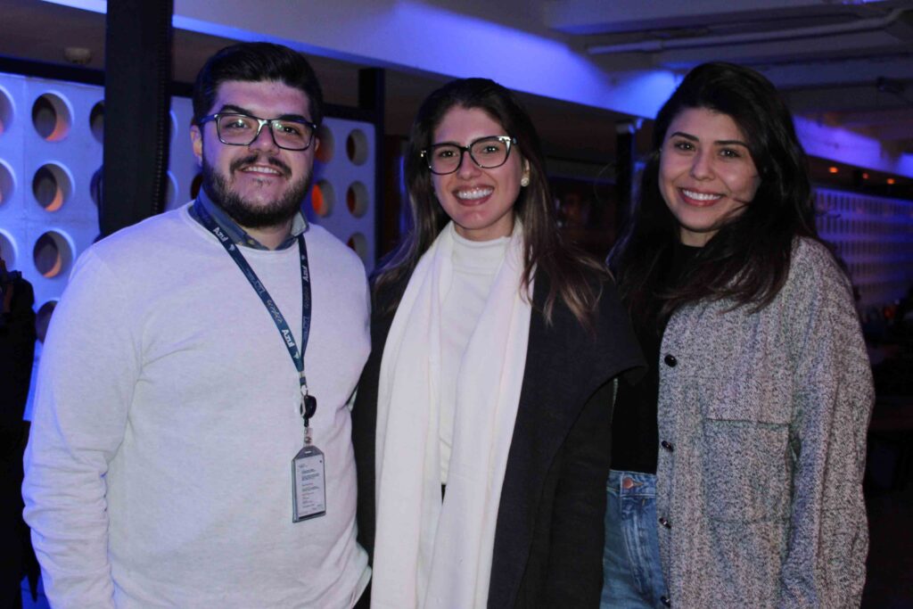
{"type": "Polygon", "coordinates": [[[669,124],[659,189],[685,245],[707,244],[750,204],[760,184],[748,141],[729,114],[688,108],[669,124]]]}

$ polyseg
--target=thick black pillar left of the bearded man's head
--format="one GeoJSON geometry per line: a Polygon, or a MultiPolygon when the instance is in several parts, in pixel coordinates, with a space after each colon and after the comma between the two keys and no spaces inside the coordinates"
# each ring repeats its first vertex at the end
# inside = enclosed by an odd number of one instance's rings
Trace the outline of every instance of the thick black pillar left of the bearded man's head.
{"type": "Polygon", "coordinates": [[[165,204],[173,0],[108,3],[99,224],[107,236],[165,204]]]}

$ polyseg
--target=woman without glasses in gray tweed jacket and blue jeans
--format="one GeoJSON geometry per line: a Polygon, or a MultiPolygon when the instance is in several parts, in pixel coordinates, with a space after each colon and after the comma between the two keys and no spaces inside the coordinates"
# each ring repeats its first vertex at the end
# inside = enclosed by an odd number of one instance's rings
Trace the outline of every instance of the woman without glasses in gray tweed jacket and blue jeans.
{"type": "Polygon", "coordinates": [[[610,255],[650,372],[620,384],[603,607],[849,607],[873,401],[849,281],[776,89],[694,68],[610,255]]]}

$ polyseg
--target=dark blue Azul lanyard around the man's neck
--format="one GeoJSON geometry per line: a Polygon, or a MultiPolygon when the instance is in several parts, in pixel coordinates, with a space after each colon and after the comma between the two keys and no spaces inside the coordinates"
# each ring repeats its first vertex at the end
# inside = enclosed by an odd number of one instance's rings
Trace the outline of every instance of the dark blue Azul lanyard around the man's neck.
{"type": "MultiPolygon", "coordinates": [[[[215,235],[215,238],[222,244],[222,247],[225,247],[228,255],[232,257],[238,268],[244,273],[247,281],[250,282],[251,287],[257,292],[257,296],[263,301],[264,306],[269,312],[269,316],[276,324],[276,328],[279,331],[279,335],[282,337],[282,341],[285,343],[286,349],[289,350],[291,360],[295,363],[295,369],[298,370],[302,399],[305,404],[310,406],[312,400],[309,399],[308,380],[304,376],[304,350],[308,348],[308,337],[310,336],[310,271],[308,269],[308,247],[304,243],[304,235],[298,236],[298,252],[301,259],[301,349],[299,350],[298,344],[295,342],[295,337],[289,328],[289,323],[285,320],[285,317],[282,315],[276,302],[269,295],[267,287],[263,285],[259,278],[257,278],[257,273],[254,272],[254,269],[250,267],[250,263],[248,263],[244,255],[241,254],[240,249],[238,249],[231,238],[226,235],[225,231],[215,224],[213,216],[206,211],[205,205],[201,205],[199,201],[196,201],[194,203],[194,212],[199,216],[200,221],[203,226],[205,226],[206,230],[215,235]]],[[[311,411],[310,407],[308,408],[310,412],[304,412],[303,406],[305,404],[302,404],[301,415],[304,416],[305,425],[307,425],[308,419],[313,416],[314,413],[311,411]]],[[[314,405],[316,408],[316,403],[314,403],[314,405]]]]}

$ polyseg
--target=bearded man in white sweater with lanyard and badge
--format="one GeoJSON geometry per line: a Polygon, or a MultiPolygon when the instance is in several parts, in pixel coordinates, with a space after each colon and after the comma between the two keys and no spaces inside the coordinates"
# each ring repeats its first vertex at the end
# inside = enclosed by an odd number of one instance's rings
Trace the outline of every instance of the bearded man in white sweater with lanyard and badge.
{"type": "Polygon", "coordinates": [[[321,118],[299,53],[219,51],[194,85],[198,200],[80,257],[26,452],[55,607],[322,609],[362,593],[346,401],[369,303],[358,258],[299,212],[321,118]]]}

